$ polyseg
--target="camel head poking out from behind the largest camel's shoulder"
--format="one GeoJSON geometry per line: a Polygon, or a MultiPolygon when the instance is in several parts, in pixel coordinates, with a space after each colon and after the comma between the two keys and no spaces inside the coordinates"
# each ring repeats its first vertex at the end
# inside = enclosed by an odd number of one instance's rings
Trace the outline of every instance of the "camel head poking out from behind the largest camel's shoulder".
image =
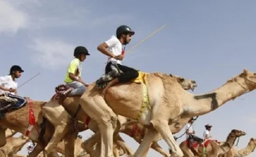
{"type": "Polygon", "coordinates": [[[169,75],[173,78],[176,78],[177,82],[180,83],[182,88],[185,89],[185,90],[191,89],[192,91],[194,91],[195,87],[197,87],[197,82],[194,81],[194,80],[185,79],[183,77],[176,76],[176,75],[173,75],[173,74],[169,74],[169,75]]]}

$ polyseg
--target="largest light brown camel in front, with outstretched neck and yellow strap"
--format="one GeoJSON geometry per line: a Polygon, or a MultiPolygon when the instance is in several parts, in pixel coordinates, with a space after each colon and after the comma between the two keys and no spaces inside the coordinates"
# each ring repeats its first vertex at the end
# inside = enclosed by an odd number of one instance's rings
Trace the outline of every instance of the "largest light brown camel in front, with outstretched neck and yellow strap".
{"type": "MultiPolygon", "coordinates": [[[[210,113],[229,100],[256,88],[256,74],[244,71],[231,78],[225,85],[203,95],[190,94],[182,89],[177,80],[161,74],[147,74],[146,84],[150,104],[141,115],[139,122],[150,126],[134,156],[146,156],[158,132],[169,145],[173,156],[183,153],[169,130],[169,124],[178,117],[193,117],[210,113]]],[[[82,109],[98,123],[101,132],[100,156],[113,156],[113,132],[117,115],[137,119],[143,102],[143,85],[124,83],[109,88],[102,98],[100,91],[91,85],[81,96],[82,109]]]]}

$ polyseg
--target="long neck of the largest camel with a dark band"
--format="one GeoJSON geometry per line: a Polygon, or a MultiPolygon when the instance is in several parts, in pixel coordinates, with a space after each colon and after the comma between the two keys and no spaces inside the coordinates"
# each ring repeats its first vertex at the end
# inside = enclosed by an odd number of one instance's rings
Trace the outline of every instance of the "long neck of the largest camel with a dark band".
{"type": "Polygon", "coordinates": [[[186,115],[189,115],[189,117],[191,117],[191,115],[197,116],[210,113],[225,104],[225,102],[241,96],[245,92],[246,89],[244,89],[238,82],[229,81],[222,87],[209,92],[208,94],[195,96],[193,94],[185,93],[185,96],[188,96],[188,99],[184,99],[184,116],[186,117],[186,115]]]}

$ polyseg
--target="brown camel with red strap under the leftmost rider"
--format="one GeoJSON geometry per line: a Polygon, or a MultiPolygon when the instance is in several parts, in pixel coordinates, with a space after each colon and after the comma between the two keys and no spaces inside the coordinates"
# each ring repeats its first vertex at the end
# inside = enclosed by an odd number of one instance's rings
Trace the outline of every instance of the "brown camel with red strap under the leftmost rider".
{"type": "MultiPolygon", "coordinates": [[[[46,104],[46,102],[32,101],[31,105],[26,104],[20,109],[6,113],[5,117],[3,119],[0,119],[0,147],[5,145],[6,143],[6,128],[10,128],[12,130],[15,130],[16,132],[20,132],[21,134],[26,134],[29,126],[29,109],[32,109],[33,115],[35,117],[35,126],[30,131],[28,137],[33,142],[38,144],[36,145],[35,149],[33,149],[33,152],[29,154],[29,156],[37,156],[40,152],[42,152],[45,147],[44,143],[48,143],[48,141],[51,139],[51,135],[53,134],[52,132],[54,131],[52,124],[45,121],[44,126],[46,129],[44,131],[44,136],[42,136],[42,140],[39,139],[40,132],[42,130],[40,124],[42,124],[43,122],[41,110],[44,104],[46,104]]],[[[54,153],[57,154],[57,152],[54,153]]]]}

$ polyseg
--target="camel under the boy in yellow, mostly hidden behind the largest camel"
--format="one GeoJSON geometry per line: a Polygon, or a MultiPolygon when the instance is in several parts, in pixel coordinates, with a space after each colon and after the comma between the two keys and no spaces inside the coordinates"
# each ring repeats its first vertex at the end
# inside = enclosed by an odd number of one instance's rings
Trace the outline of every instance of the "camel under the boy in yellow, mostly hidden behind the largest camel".
{"type": "MultiPolygon", "coordinates": [[[[195,81],[191,81],[188,79],[184,79],[180,76],[170,75],[172,78],[175,78],[177,82],[182,85],[184,89],[194,89],[197,87],[195,81]]],[[[62,103],[63,106],[59,105],[58,101],[52,98],[42,110],[44,117],[48,119],[55,126],[55,133],[53,134],[53,138],[48,143],[45,148],[45,152],[50,153],[51,150],[55,149],[57,143],[63,138],[63,136],[70,131],[70,128],[73,127],[73,118],[80,120],[81,122],[85,122],[88,119],[88,116],[85,114],[83,110],[79,111],[79,96],[74,96],[71,98],[66,98],[62,103]],[[65,108],[65,109],[64,109],[65,108]],[[66,112],[67,111],[67,112],[66,112]],[[72,116],[71,116],[72,115],[72,116]]],[[[122,126],[126,123],[126,119],[123,121],[119,121],[119,126],[122,126]]],[[[98,130],[98,125],[94,121],[89,122],[89,128],[96,132],[98,130]]],[[[96,133],[97,134],[97,133],[96,133]]],[[[94,139],[95,140],[95,139],[94,139]]],[[[127,152],[132,152],[132,150],[125,145],[124,142],[119,141],[118,143],[123,149],[126,149],[127,152]]],[[[70,154],[72,149],[70,149],[70,154]]],[[[88,151],[90,152],[90,151],[88,151]]],[[[130,154],[130,153],[129,153],[130,154]]]]}

